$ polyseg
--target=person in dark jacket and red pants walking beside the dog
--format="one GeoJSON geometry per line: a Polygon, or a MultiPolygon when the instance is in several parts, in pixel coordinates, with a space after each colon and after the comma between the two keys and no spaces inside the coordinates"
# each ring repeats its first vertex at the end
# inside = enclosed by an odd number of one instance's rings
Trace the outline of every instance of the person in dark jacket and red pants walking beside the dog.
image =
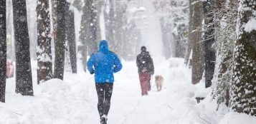
{"type": "Polygon", "coordinates": [[[153,75],[154,67],[153,60],[148,51],[146,51],[145,46],[141,47],[141,53],[137,56],[136,64],[141,83],[141,95],[148,95],[148,90],[150,90],[150,76],[153,75]]]}

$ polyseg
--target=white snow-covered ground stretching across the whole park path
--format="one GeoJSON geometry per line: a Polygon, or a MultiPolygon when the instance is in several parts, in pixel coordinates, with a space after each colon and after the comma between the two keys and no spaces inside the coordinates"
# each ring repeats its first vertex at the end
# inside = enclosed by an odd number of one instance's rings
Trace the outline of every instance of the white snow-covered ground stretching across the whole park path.
{"type": "MultiPolygon", "coordinates": [[[[123,61],[123,70],[115,74],[109,124],[255,124],[250,115],[229,112],[217,105],[204,83],[191,85],[191,70],[183,59],[171,58],[155,63],[156,73],[164,78],[163,91],[152,90],[141,96],[135,61],[123,61]],[[207,95],[208,94],[208,95],[207,95]],[[196,96],[207,98],[197,104],[196,96]],[[226,115],[224,115],[226,114],[226,115]]],[[[6,103],[0,103],[2,124],[98,124],[97,95],[93,76],[82,71],[65,72],[65,80],[52,79],[37,85],[33,62],[34,96],[15,93],[14,78],[7,79],[6,103]]]]}

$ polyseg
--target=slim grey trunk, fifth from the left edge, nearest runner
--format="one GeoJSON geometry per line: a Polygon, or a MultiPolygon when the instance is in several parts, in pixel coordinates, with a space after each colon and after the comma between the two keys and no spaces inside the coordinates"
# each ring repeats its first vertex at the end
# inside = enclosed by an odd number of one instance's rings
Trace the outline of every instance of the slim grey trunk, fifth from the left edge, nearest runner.
{"type": "Polygon", "coordinates": [[[77,73],[77,51],[75,45],[75,14],[70,9],[70,3],[67,2],[66,29],[67,29],[67,45],[70,51],[70,63],[72,73],[77,73]]]}

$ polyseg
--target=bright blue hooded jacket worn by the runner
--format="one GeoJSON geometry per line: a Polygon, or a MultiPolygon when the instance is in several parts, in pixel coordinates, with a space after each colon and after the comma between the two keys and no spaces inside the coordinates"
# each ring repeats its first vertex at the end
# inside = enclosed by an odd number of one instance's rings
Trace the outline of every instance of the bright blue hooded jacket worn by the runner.
{"type": "Polygon", "coordinates": [[[113,73],[122,69],[118,56],[108,50],[108,42],[100,41],[99,51],[93,53],[87,61],[87,69],[95,72],[95,83],[113,83],[113,73]]]}

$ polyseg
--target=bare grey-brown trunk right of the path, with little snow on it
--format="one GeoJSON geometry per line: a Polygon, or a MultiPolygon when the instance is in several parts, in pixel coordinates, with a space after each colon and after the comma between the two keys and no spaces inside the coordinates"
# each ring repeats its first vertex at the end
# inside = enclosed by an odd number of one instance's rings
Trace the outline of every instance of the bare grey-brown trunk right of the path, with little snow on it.
{"type": "Polygon", "coordinates": [[[196,84],[201,81],[204,72],[204,52],[202,42],[202,1],[192,0],[191,6],[193,6],[193,23],[192,23],[192,83],[196,84]]]}

